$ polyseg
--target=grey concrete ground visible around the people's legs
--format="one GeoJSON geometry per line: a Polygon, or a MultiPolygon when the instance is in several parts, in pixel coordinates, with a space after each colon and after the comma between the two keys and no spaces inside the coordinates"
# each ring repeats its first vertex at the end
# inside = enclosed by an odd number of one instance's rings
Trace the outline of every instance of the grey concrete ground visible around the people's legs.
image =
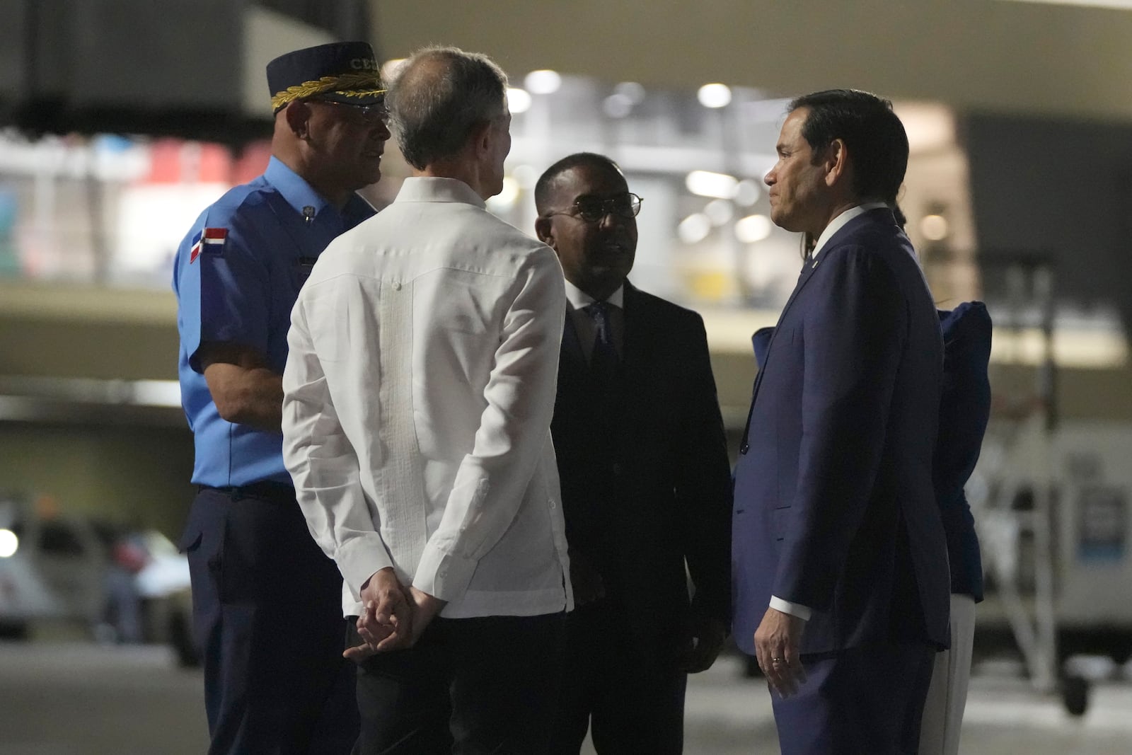
{"type": "MultiPolygon", "coordinates": [[[[163,647],[0,643],[0,755],[200,755],[200,672],[163,647]]],[[[1132,755],[1132,686],[1099,685],[1072,719],[1022,679],[977,677],[963,753],[1132,755]]],[[[588,750],[592,753],[592,749],[588,750]]],[[[778,752],[770,697],[735,658],[688,685],[688,755],[778,752]]]]}

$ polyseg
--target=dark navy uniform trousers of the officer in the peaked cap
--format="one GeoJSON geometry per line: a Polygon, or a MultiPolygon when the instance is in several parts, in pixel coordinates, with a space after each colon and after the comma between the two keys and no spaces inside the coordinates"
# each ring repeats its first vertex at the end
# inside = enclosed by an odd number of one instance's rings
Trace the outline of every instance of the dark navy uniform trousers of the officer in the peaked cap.
{"type": "Polygon", "coordinates": [[[349,753],[353,664],[342,577],[294,491],[203,488],[181,541],[204,660],[209,755],[349,753]]]}

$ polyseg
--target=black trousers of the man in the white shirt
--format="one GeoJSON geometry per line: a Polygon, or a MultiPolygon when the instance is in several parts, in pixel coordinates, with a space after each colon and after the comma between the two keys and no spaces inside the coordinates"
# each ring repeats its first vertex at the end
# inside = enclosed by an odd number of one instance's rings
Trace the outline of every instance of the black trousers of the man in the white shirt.
{"type": "Polygon", "coordinates": [[[561,651],[561,614],[436,618],[412,649],[359,664],[354,753],[542,755],[561,651]]]}

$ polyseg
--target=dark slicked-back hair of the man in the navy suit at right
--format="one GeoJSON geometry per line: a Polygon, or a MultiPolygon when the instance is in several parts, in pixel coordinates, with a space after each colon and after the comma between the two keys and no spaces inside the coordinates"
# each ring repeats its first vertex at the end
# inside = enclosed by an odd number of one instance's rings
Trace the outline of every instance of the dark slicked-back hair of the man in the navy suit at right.
{"type": "Polygon", "coordinates": [[[857,89],[826,89],[798,97],[788,111],[809,112],[801,135],[814,152],[841,139],[852,157],[858,199],[894,204],[908,170],[908,135],[892,102],[857,89]]]}

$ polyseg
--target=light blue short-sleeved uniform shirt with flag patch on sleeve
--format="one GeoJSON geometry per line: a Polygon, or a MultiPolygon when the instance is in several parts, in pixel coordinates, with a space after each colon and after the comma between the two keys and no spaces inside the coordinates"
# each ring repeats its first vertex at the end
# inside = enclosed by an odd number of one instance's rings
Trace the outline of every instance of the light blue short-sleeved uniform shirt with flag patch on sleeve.
{"type": "Polygon", "coordinates": [[[196,443],[192,482],[212,487],[291,483],[283,435],[221,419],[201,374],[201,343],[251,346],[283,374],[294,306],[318,255],[374,214],[358,196],[343,212],[275,157],[197,218],[173,261],[181,335],[181,405],[196,443]],[[310,220],[308,220],[310,216],[310,220]]]}

